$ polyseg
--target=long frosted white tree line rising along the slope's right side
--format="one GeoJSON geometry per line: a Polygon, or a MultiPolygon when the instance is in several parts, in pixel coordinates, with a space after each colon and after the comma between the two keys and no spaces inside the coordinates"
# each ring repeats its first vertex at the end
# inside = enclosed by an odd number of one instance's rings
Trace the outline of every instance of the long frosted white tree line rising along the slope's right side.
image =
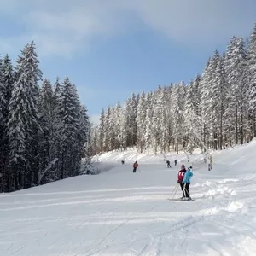
{"type": "Polygon", "coordinates": [[[99,154],[137,147],[155,154],[174,149],[224,149],[256,137],[256,24],[248,39],[232,37],[224,53],[215,50],[202,74],[134,93],[123,106],[102,109],[90,133],[99,154]]]}

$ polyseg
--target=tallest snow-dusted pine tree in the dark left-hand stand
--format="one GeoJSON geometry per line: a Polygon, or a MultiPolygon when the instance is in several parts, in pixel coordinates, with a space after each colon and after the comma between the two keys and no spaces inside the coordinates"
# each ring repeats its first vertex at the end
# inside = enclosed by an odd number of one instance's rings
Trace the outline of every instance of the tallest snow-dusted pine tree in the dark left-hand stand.
{"type": "Polygon", "coordinates": [[[26,44],[17,60],[17,81],[9,102],[9,191],[38,181],[38,68],[35,44],[26,44]]]}

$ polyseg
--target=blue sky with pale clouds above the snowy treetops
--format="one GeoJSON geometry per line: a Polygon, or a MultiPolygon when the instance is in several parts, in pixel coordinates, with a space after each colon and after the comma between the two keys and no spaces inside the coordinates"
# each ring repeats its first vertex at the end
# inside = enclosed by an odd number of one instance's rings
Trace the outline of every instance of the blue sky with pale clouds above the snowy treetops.
{"type": "Polygon", "coordinates": [[[0,0],[0,53],[34,40],[44,77],[68,76],[97,122],[132,92],[195,79],[255,13],[255,0],[0,0]]]}

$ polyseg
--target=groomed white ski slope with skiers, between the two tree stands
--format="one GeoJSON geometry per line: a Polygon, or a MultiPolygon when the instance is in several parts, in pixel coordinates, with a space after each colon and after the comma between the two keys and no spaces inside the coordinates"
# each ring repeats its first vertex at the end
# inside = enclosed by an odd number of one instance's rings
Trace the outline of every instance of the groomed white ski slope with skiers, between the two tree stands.
{"type": "Polygon", "coordinates": [[[254,256],[255,156],[256,141],[216,152],[208,172],[195,154],[195,201],[168,201],[184,154],[166,155],[171,169],[162,155],[102,154],[108,172],[0,195],[0,255],[254,256]]]}

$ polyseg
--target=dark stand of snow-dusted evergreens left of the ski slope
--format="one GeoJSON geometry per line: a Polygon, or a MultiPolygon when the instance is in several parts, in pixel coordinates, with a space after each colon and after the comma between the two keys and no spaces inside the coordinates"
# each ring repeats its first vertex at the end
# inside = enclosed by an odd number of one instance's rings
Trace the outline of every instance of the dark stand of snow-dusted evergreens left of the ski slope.
{"type": "Polygon", "coordinates": [[[0,192],[78,175],[90,122],[75,85],[43,79],[34,42],[0,59],[0,192]]]}

